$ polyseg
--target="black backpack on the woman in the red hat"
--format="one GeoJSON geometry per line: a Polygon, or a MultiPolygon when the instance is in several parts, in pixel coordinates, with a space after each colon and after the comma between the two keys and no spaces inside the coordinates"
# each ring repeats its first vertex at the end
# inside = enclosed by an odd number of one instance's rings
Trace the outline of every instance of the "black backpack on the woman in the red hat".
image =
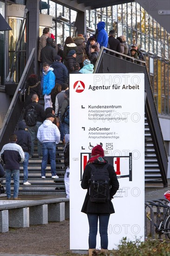
{"type": "Polygon", "coordinates": [[[89,179],[89,195],[91,202],[104,203],[110,199],[110,178],[107,170],[109,164],[103,168],[96,168],[90,164],[91,178],[89,179]]]}

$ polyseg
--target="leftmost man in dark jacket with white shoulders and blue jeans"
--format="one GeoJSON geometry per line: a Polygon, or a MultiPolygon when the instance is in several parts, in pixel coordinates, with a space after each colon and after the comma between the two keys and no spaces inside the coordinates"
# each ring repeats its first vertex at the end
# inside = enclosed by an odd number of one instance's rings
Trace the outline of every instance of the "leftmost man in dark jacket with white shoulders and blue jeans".
{"type": "Polygon", "coordinates": [[[20,162],[24,161],[24,151],[16,144],[16,141],[17,135],[10,135],[9,143],[4,145],[0,151],[0,159],[5,164],[7,199],[11,199],[11,178],[13,176],[13,199],[19,200],[20,162]]]}

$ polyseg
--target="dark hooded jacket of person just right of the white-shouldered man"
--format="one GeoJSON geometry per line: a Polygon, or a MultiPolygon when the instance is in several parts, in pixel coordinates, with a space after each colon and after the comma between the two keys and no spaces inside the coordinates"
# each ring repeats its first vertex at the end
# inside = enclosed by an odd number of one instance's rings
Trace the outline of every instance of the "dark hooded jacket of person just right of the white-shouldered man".
{"type": "Polygon", "coordinates": [[[31,135],[25,131],[26,123],[20,121],[18,124],[18,131],[15,131],[17,135],[16,143],[21,146],[24,152],[31,154],[31,135]]]}

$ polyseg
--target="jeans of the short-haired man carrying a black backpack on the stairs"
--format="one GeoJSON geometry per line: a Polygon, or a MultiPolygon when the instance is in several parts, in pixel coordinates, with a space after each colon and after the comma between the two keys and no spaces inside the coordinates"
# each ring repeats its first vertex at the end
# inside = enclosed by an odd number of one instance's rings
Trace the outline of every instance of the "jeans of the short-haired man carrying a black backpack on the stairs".
{"type": "MultiPolygon", "coordinates": [[[[31,135],[31,155],[33,155],[33,152],[34,152],[34,141],[37,138],[38,129],[41,124],[42,124],[41,122],[37,122],[36,125],[34,126],[28,126],[28,132],[31,135]]],[[[38,155],[39,156],[42,155],[42,144],[39,140],[37,144],[37,150],[38,150],[38,155]]]]}

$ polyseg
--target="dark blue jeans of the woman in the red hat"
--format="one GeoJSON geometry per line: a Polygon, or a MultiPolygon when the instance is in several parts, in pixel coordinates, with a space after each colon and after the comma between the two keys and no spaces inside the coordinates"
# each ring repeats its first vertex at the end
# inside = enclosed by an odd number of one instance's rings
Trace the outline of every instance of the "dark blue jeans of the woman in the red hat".
{"type": "Polygon", "coordinates": [[[89,221],[89,249],[96,248],[96,236],[98,233],[98,218],[99,218],[99,233],[100,233],[100,246],[101,249],[108,247],[108,223],[110,214],[87,214],[89,221]]]}

